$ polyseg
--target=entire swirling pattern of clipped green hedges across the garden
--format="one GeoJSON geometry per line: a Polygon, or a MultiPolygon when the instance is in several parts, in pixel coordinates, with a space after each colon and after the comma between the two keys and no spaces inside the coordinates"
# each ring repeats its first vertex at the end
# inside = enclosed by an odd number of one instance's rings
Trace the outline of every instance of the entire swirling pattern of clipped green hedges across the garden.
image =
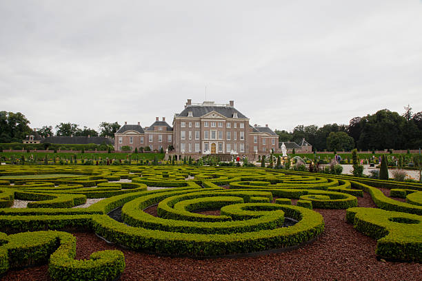
{"type": "Polygon", "coordinates": [[[48,262],[54,280],[117,278],[125,267],[121,251],[74,260],[76,241],[68,232],[77,230],[135,251],[170,256],[292,249],[323,233],[323,217],[313,209],[347,209],[348,222],[378,240],[377,255],[420,262],[422,186],[392,187],[392,195],[407,198],[399,202],[377,185],[259,168],[4,166],[0,272],[48,262]],[[363,192],[379,209],[357,207],[356,196],[363,192]],[[16,208],[19,200],[27,207],[16,208]],[[154,214],[147,211],[151,208],[154,214]]]}

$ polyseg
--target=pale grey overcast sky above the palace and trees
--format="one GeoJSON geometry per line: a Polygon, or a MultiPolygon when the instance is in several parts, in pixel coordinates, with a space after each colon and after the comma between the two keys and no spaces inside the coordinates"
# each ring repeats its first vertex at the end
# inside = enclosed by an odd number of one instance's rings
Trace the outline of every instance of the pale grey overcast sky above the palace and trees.
{"type": "Polygon", "coordinates": [[[0,1],[0,110],[31,127],[171,125],[205,86],[272,129],[422,111],[422,1],[0,1]]]}

